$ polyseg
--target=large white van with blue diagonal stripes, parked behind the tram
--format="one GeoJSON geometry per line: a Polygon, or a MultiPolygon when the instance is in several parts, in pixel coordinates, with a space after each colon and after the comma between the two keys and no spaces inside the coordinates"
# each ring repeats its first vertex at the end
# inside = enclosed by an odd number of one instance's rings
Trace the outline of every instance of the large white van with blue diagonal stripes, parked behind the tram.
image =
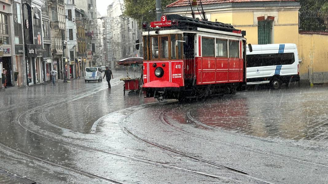
{"type": "Polygon", "coordinates": [[[273,89],[281,84],[299,81],[296,44],[252,45],[246,48],[247,85],[270,84],[273,89]]]}

